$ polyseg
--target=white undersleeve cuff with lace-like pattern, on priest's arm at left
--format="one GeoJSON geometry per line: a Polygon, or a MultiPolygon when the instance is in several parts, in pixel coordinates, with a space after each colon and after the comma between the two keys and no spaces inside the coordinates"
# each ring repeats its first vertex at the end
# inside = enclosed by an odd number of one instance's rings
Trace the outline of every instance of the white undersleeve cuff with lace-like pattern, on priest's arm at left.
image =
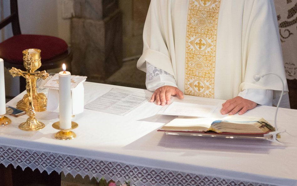
{"type": "Polygon", "coordinates": [[[175,79],[168,72],[159,69],[146,62],[146,88],[150,91],[155,91],[157,88],[170,85],[176,86],[175,79]]]}

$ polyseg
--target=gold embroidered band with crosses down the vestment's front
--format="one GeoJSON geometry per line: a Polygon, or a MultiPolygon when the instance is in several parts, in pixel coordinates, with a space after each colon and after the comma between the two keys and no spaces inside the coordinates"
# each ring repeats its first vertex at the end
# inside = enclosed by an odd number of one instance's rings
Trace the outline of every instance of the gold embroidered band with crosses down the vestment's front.
{"type": "Polygon", "coordinates": [[[220,0],[190,0],[185,53],[185,94],[214,98],[220,0]]]}

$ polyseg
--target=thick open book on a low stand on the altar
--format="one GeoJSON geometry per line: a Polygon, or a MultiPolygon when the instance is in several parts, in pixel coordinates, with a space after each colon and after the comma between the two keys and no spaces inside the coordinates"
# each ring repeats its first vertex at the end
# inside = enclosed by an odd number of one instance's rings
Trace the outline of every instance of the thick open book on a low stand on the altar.
{"type": "Polygon", "coordinates": [[[263,118],[232,115],[222,119],[175,118],[158,131],[266,134],[274,128],[263,118]]]}

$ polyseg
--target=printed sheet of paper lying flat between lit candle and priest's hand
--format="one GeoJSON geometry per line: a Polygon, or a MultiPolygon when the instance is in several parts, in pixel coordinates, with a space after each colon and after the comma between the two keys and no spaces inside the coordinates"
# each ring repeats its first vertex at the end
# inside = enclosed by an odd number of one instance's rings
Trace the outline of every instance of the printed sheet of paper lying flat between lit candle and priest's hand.
{"type": "Polygon", "coordinates": [[[148,98],[149,97],[144,93],[112,88],[108,93],[86,104],[85,109],[125,115],[145,102],[148,98]]]}

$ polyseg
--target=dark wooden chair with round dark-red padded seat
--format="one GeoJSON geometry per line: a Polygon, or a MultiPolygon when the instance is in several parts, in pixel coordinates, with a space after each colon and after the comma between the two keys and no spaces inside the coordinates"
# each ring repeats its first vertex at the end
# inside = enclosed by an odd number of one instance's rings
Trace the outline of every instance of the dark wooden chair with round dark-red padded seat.
{"type": "MultiPolygon", "coordinates": [[[[61,67],[63,63],[71,69],[72,53],[67,43],[57,37],[21,34],[18,19],[18,1],[10,0],[11,14],[0,22],[0,29],[11,23],[13,37],[0,43],[0,58],[6,68],[16,67],[25,71],[22,51],[29,48],[41,50],[39,71],[61,67]]],[[[20,77],[20,91],[25,90],[25,79],[20,77]]]]}

